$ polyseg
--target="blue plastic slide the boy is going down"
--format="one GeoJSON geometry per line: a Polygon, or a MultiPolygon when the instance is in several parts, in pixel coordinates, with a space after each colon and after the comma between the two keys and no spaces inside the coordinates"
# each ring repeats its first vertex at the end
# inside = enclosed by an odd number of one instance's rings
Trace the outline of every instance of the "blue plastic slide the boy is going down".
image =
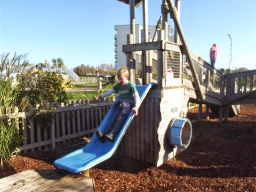
{"type": "MultiPolygon", "coordinates": [[[[148,85],[136,85],[136,88],[140,95],[140,104],[142,103],[142,101],[146,97],[146,94],[152,86],[156,86],[156,84],[149,83],[148,85]]],[[[115,107],[112,106],[110,110],[108,110],[108,113],[104,117],[97,130],[104,132],[104,130],[110,123],[114,111],[115,107]]],[[[132,112],[128,116],[119,134],[114,137],[114,142],[110,142],[108,140],[106,140],[104,143],[100,142],[95,132],[88,144],[74,152],[71,152],[70,154],[67,154],[66,156],[63,156],[62,158],[55,160],[54,166],[58,170],[62,170],[70,174],[78,174],[95,166],[96,164],[99,164],[104,160],[107,160],[114,154],[114,152],[118,148],[118,145],[120,144],[133,117],[134,110],[132,110],[132,112]]]]}

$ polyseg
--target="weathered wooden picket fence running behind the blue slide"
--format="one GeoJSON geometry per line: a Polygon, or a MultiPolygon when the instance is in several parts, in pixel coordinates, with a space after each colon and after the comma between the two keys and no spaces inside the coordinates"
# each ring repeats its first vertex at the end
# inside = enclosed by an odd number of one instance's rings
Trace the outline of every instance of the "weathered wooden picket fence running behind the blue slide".
{"type": "MultiPolygon", "coordinates": [[[[79,137],[90,137],[98,128],[115,98],[106,98],[106,101],[92,103],[89,100],[68,101],[66,103],[50,104],[55,108],[53,118],[45,122],[38,121],[36,111],[30,106],[26,112],[0,114],[0,123],[8,124],[14,120],[24,138],[20,147],[22,151],[38,148],[55,148],[56,143],[79,137]]],[[[8,111],[8,110],[7,110],[8,111]]]]}

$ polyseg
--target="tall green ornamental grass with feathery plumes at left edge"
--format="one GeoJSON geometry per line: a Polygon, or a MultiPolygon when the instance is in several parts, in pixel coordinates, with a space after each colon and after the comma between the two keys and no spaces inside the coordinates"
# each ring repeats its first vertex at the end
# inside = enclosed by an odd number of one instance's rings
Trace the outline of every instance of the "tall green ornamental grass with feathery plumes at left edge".
{"type": "Polygon", "coordinates": [[[0,150],[1,168],[8,164],[10,156],[19,150],[22,137],[19,134],[18,122],[14,119],[5,118],[4,114],[17,113],[16,106],[22,111],[28,106],[27,97],[19,98],[22,75],[28,62],[26,54],[16,56],[11,60],[9,54],[0,55],[0,150]],[[23,62],[22,62],[23,61],[23,62]]]}

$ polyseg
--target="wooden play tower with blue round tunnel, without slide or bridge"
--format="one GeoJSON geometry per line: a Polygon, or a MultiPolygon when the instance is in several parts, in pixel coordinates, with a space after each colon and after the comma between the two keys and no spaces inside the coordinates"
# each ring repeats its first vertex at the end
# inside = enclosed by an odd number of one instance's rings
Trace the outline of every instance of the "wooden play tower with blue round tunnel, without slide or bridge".
{"type": "MultiPolygon", "coordinates": [[[[128,3],[128,1],[126,1],[128,3]]],[[[133,82],[156,82],[146,96],[130,127],[128,128],[120,151],[125,156],[150,162],[156,166],[173,158],[176,154],[184,151],[190,143],[192,126],[186,119],[188,100],[190,96],[185,94],[182,78],[183,55],[191,60],[186,41],[180,38],[182,45],[168,41],[167,14],[172,8],[174,23],[180,37],[183,36],[180,27],[177,10],[172,0],[163,0],[162,4],[162,28],[156,29],[157,38],[148,40],[148,1],[143,0],[143,21],[145,42],[134,44],[134,0],[130,0],[130,26],[131,34],[127,35],[127,45],[123,45],[123,52],[127,56],[127,67],[130,71],[130,80],[133,82]],[[169,7],[169,8],[168,8],[169,7]],[[136,77],[135,52],[142,54],[141,78],[136,77]],[[157,66],[157,79],[153,79],[153,67],[157,66]]],[[[192,68],[191,61],[188,61],[192,68]]],[[[198,81],[197,76],[193,77],[198,81]]],[[[198,97],[203,98],[200,88],[198,97]]]]}

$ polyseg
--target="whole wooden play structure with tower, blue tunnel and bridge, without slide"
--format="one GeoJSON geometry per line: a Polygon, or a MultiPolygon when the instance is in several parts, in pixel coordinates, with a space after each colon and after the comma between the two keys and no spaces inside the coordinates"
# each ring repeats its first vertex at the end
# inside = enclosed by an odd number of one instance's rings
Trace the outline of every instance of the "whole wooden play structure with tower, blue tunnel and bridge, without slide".
{"type": "Polygon", "coordinates": [[[222,124],[223,116],[227,120],[228,114],[239,112],[239,104],[255,103],[255,70],[224,74],[191,52],[179,22],[179,0],[175,1],[175,6],[172,0],[162,1],[162,28],[156,28],[157,38],[153,40],[148,40],[148,1],[122,2],[130,5],[131,34],[127,35],[127,45],[123,45],[130,80],[142,84],[157,82],[157,87],[147,94],[139,116],[134,118],[126,132],[120,152],[160,166],[184,151],[190,143],[192,126],[186,119],[189,102],[199,104],[199,121],[202,120],[202,104],[206,104],[207,116],[210,108],[219,115],[222,124]],[[143,6],[145,42],[134,44],[134,6],[140,3],[143,6]],[[176,29],[174,43],[168,40],[169,13],[176,29]],[[136,77],[136,52],[142,54],[139,78],[136,77]],[[152,78],[154,65],[157,66],[156,80],[152,78]],[[247,79],[250,81],[249,90],[247,79]]]}

